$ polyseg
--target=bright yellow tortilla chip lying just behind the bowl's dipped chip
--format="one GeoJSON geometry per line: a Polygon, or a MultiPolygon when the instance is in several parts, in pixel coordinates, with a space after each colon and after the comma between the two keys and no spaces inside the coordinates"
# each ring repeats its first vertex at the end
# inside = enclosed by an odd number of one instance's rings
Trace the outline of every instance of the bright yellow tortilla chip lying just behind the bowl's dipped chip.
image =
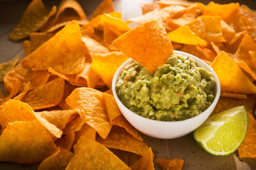
{"type": "Polygon", "coordinates": [[[206,46],[207,42],[204,39],[196,36],[188,26],[180,27],[168,33],[171,42],[187,44],[187,45],[201,45],[206,46]]]}

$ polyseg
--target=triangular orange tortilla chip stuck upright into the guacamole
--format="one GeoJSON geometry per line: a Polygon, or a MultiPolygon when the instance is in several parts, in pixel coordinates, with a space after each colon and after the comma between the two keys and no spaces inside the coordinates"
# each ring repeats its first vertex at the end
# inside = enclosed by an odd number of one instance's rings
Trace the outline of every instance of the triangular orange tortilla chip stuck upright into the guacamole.
{"type": "Polygon", "coordinates": [[[162,24],[153,19],[113,41],[114,47],[143,65],[151,74],[173,54],[172,43],[162,24]]]}

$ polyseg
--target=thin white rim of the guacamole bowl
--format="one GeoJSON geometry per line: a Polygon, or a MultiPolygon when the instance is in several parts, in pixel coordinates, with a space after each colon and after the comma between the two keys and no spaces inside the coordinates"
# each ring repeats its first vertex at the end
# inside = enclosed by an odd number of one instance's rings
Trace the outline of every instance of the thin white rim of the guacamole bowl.
{"type": "MultiPolygon", "coordinates": [[[[217,74],[214,72],[214,70],[206,63],[204,62],[202,59],[196,57],[195,55],[192,55],[192,54],[189,54],[189,53],[185,53],[183,51],[178,51],[178,50],[173,50],[173,53],[174,54],[179,54],[179,55],[182,55],[182,56],[187,56],[189,55],[190,57],[192,57],[196,63],[198,64],[198,61],[204,65],[204,66],[199,66],[199,67],[203,67],[205,68],[208,72],[211,72],[213,74],[213,77],[215,78],[216,82],[215,82],[215,97],[214,97],[214,101],[212,102],[212,104],[210,105],[210,107],[208,107],[204,112],[200,113],[199,115],[195,116],[195,117],[191,117],[189,119],[185,119],[185,120],[178,120],[178,121],[161,121],[161,120],[153,120],[153,119],[148,119],[146,117],[143,117],[143,116],[140,116],[134,112],[132,112],[131,110],[129,110],[127,107],[125,107],[125,105],[120,101],[120,99],[118,98],[117,94],[116,94],[116,88],[115,88],[115,85],[116,85],[116,81],[118,79],[118,77],[120,76],[120,73],[121,71],[123,70],[123,68],[128,65],[129,63],[131,63],[133,61],[132,58],[129,58],[127,59],[123,64],[121,64],[118,69],[116,70],[114,76],[113,76],[113,80],[112,80],[112,93],[113,93],[113,96],[116,100],[116,103],[120,104],[124,109],[125,111],[131,113],[131,116],[133,117],[138,117],[139,119],[142,119],[144,121],[149,121],[149,122],[152,122],[152,123],[161,123],[161,124],[180,124],[180,123],[188,123],[190,121],[193,121],[193,120],[197,120],[197,119],[200,119],[201,117],[205,116],[205,114],[207,114],[207,111],[208,110],[214,110],[215,106],[217,105],[218,103],[218,100],[219,100],[219,97],[220,97],[220,93],[221,93],[221,85],[220,85],[220,82],[219,82],[219,79],[218,79],[218,76],[217,74]]],[[[199,64],[199,65],[201,65],[199,64]]],[[[124,114],[123,112],[121,112],[122,114],[124,114]]],[[[210,113],[209,115],[210,116],[210,113]]]]}

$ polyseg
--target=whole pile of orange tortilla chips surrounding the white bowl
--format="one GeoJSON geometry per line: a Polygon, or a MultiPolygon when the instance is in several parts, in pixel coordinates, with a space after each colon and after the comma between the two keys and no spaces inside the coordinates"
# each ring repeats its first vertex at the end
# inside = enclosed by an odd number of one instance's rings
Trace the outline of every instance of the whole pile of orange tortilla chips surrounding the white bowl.
{"type": "MultiPolygon", "coordinates": [[[[51,11],[31,1],[10,35],[27,38],[26,57],[0,67],[7,92],[0,94],[0,161],[40,162],[38,169],[154,169],[156,155],[121,114],[111,82],[129,57],[154,73],[173,49],[214,69],[222,92],[215,112],[245,105],[249,126],[238,152],[256,158],[256,13],[238,3],[185,0],[141,7],[143,15],[123,21],[112,0],[90,17],[75,0],[51,11]],[[140,26],[132,29],[131,22],[140,26]],[[109,148],[139,159],[128,165],[109,148]]],[[[157,162],[181,169],[184,161],[157,162]]]]}

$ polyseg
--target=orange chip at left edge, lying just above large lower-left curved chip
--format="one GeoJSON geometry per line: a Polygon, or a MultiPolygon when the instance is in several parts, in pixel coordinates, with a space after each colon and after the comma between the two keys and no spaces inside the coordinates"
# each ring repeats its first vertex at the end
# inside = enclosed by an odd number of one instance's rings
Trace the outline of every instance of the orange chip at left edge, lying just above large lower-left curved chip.
{"type": "Polygon", "coordinates": [[[0,124],[3,129],[11,122],[35,119],[33,109],[28,104],[12,99],[5,103],[0,111],[0,115],[0,124]]]}

